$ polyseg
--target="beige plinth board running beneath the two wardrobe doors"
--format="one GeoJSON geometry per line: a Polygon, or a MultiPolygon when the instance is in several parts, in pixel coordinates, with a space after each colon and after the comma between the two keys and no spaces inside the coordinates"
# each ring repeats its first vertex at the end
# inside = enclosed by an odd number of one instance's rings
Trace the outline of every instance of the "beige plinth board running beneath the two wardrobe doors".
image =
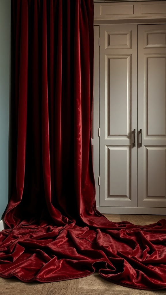
{"type": "Polygon", "coordinates": [[[149,208],[149,207],[101,207],[97,210],[103,214],[153,214],[166,215],[166,208],[149,208]]]}

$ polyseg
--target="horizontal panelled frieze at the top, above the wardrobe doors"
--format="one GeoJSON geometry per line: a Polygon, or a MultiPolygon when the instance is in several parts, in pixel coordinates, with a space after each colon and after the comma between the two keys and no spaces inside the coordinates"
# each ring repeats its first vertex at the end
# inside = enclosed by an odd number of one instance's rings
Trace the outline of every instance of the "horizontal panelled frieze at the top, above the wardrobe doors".
{"type": "Polygon", "coordinates": [[[94,20],[106,19],[163,19],[166,1],[95,3],[94,20]]]}

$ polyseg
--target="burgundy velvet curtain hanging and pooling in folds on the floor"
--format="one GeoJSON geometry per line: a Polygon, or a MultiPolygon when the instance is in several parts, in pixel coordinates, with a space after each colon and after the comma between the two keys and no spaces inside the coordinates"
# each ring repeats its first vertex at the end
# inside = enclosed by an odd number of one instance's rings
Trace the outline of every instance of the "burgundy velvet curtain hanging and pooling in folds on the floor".
{"type": "Polygon", "coordinates": [[[166,288],[166,220],[109,222],[95,207],[91,152],[93,1],[12,1],[14,189],[0,276],[88,276],[166,288]]]}

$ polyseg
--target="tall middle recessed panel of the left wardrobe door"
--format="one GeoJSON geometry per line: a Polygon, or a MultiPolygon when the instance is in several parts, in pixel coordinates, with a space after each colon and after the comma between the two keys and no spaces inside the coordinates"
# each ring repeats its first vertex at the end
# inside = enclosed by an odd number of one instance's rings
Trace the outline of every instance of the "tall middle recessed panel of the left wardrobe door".
{"type": "Polygon", "coordinates": [[[107,56],[109,77],[109,136],[130,137],[130,68],[128,56],[107,56]]]}

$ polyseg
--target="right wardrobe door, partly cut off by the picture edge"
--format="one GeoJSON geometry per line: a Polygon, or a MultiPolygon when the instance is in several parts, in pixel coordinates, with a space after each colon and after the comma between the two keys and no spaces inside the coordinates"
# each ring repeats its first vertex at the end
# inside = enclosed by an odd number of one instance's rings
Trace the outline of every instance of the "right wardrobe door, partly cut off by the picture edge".
{"type": "Polygon", "coordinates": [[[139,25],[138,207],[166,207],[165,81],[166,25],[139,25]]]}

